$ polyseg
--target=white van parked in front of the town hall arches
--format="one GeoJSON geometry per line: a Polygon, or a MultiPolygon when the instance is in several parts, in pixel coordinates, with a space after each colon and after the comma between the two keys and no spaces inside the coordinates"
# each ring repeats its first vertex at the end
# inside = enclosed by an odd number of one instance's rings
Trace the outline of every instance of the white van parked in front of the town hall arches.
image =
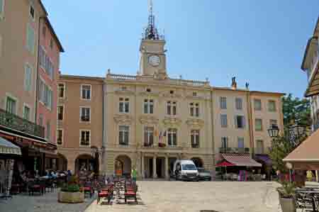
{"type": "Polygon", "coordinates": [[[198,181],[198,170],[192,160],[177,160],[174,163],[174,177],[176,180],[198,181]]]}

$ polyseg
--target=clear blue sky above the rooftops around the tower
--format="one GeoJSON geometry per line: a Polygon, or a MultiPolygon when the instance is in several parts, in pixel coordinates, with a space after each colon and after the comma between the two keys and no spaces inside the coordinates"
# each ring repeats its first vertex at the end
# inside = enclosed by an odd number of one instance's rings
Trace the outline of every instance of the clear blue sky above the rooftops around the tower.
{"type": "MultiPolygon", "coordinates": [[[[303,52],[318,0],[153,0],[170,77],[303,96],[303,52]]],[[[65,48],[63,74],[136,74],[147,0],[43,0],[65,48]]]]}

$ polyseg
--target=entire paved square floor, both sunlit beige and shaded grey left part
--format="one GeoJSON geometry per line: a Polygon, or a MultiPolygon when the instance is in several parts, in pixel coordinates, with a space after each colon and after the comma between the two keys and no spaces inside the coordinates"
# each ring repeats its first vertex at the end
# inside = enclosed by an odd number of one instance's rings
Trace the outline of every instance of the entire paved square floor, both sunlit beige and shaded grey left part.
{"type": "Polygon", "coordinates": [[[99,212],[99,211],[185,211],[198,212],[277,212],[278,194],[274,182],[164,182],[142,181],[139,185],[139,203],[112,205],[96,204],[86,199],[81,204],[57,203],[57,192],[44,196],[13,196],[0,200],[0,211],[5,212],[99,212]]]}

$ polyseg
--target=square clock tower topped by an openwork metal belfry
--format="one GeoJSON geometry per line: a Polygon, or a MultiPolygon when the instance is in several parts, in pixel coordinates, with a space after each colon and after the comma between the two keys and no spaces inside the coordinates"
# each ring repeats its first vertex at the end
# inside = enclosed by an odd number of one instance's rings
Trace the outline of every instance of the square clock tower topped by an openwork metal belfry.
{"type": "Polygon", "coordinates": [[[165,40],[164,36],[159,35],[155,27],[152,0],[149,1],[149,4],[148,26],[140,43],[140,74],[165,79],[167,77],[165,40]]]}

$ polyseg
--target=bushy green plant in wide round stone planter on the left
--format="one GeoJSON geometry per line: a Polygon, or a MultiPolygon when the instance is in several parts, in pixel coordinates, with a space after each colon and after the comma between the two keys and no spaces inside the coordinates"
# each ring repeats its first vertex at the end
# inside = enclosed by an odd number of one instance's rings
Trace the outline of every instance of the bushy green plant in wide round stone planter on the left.
{"type": "Polygon", "coordinates": [[[60,203],[82,203],[84,202],[84,192],[80,191],[79,180],[76,176],[70,177],[67,184],[57,194],[60,203]]]}

